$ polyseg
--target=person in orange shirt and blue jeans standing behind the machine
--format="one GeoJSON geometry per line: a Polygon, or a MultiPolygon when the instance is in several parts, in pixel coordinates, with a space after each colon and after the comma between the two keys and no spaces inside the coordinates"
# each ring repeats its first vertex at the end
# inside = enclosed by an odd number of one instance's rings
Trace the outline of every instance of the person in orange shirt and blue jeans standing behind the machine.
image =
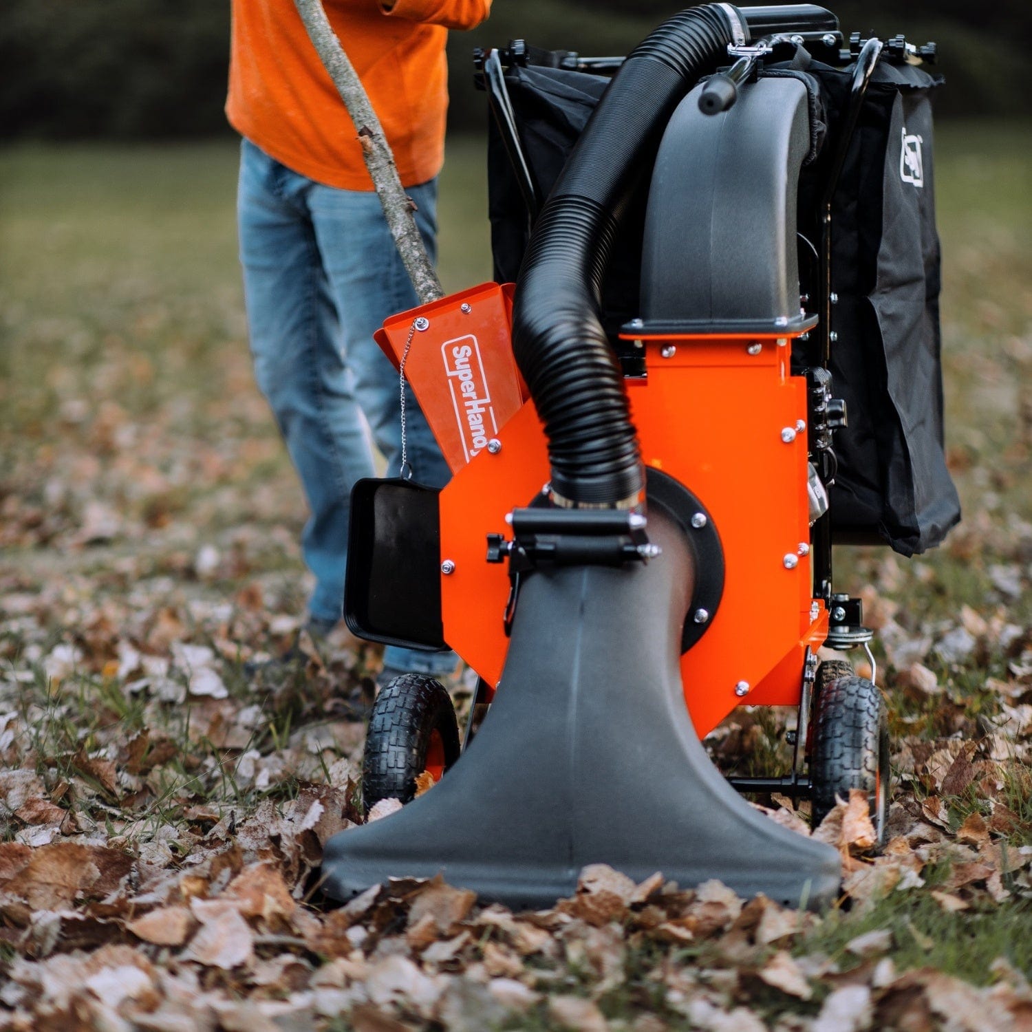
{"type": "MultiPolygon", "coordinates": [[[[432,258],[445,41],[449,29],[479,25],[490,0],[324,6],[380,117],[432,258]]],[[[293,0],[233,0],[226,115],[243,136],[237,224],[255,378],[308,498],[302,550],[316,578],[308,626],[325,634],[342,614],[351,488],[374,476],[366,427],[388,469],[400,455],[398,377],[373,333],[417,298],[355,128],[293,0]]],[[[448,467],[415,398],[406,401],[416,479],[443,486],[448,467]]],[[[454,666],[451,653],[389,646],[381,682],[454,666]]]]}

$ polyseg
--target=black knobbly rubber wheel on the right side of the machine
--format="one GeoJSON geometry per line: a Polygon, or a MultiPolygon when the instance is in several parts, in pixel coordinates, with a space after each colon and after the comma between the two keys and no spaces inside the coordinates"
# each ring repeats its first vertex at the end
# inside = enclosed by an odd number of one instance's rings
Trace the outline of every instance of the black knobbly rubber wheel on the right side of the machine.
{"type": "Polygon", "coordinates": [[[835,806],[836,796],[848,799],[850,788],[860,788],[867,793],[876,844],[881,846],[889,814],[889,716],[884,700],[865,677],[849,674],[820,683],[823,680],[818,672],[810,759],[813,827],[835,806]]]}

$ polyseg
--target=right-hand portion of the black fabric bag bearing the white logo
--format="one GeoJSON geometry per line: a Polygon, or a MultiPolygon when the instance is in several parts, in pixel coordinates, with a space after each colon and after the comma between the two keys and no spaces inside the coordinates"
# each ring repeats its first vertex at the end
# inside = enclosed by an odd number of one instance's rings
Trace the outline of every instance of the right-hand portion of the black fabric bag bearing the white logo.
{"type": "MultiPolygon", "coordinates": [[[[814,62],[807,72],[821,86],[829,140],[801,195],[819,195],[852,69],[814,62]]],[[[832,205],[832,386],[849,419],[835,436],[833,536],[903,555],[938,545],[961,515],[943,452],[936,86],[921,68],[878,63],[832,205]]]]}

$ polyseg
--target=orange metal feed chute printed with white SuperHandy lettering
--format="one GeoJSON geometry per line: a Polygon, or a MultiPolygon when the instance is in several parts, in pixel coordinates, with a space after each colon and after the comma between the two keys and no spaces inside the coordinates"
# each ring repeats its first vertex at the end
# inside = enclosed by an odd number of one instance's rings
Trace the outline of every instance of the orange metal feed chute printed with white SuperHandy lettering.
{"type": "Polygon", "coordinates": [[[392,316],[376,338],[405,375],[448,465],[460,470],[523,404],[509,324],[511,287],[485,283],[392,316]],[[416,319],[424,329],[413,332],[416,319]]]}

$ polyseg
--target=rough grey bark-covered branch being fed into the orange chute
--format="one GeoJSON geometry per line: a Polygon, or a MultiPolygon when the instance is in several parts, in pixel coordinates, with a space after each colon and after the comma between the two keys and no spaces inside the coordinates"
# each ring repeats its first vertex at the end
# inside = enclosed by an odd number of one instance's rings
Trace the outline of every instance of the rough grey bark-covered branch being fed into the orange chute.
{"type": "Polygon", "coordinates": [[[358,131],[365,167],[369,170],[394,246],[401,256],[416,294],[422,304],[436,301],[444,297],[445,292],[423,246],[423,238],[419,235],[413,215],[414,204],[401,186],[394,155],[380,125],[380,119],[326,18],[321,0],[294,0],[294,5],[319,60],[329,72],[329,77],[358,131]]]}

